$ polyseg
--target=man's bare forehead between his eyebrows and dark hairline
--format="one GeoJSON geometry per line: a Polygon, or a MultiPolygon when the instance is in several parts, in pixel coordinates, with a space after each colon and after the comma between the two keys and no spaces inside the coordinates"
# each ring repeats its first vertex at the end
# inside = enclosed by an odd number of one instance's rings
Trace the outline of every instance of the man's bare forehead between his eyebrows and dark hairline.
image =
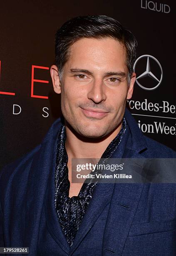
{"type": "Polygon", "coordinates": [[[68,68],[126,70],[126,50],[123,44],[112,38],[82,38],[76,41],[69,49],[68,68]]]}

